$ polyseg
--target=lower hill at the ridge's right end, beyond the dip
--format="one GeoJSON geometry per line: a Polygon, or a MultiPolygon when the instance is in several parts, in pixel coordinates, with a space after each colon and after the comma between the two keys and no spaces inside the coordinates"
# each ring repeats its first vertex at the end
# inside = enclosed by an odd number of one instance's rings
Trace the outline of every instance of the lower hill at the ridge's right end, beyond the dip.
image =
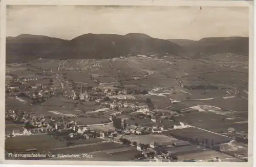
{"type": "Polygon", "coordinates": [[[248,37],[202,38],[183,45],[186,56],[200,58],[216,54],[249,55],[248,37]]]}

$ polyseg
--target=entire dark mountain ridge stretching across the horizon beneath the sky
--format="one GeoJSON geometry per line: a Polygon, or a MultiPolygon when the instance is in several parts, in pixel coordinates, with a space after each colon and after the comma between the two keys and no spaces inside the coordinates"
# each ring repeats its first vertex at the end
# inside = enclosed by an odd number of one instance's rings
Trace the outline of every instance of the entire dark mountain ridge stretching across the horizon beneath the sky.
{"type": "Polygon", "coordinates": [[[195,58],[215,53],[248,55],[249,51],[246,51],[248,41],[247,37],[214,37],[202,38],[198,41],[164,40],[141,33],[126,35],[89,33],[71,40],[20,34],[16,37],[6,37],[6,62],[26,62],[37,58],[105,59],[127,55],[172,55],[195,58]],[[179,43],[180,41],[183,41],[183,44],[179,43]]]}

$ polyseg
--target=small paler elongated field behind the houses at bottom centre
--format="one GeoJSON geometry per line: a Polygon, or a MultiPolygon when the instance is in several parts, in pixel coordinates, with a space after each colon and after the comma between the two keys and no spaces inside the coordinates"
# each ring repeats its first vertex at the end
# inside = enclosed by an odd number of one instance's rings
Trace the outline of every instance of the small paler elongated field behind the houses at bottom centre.
{"type": "Polygon", "coordinates": [[[169,137],[166,135],[155,135],[155,134],[148,134],[148,135],[126,135],[126,139],[130,140],[131,142],[137,141],[137,143],[141,144],[151,144],[152,142],[156,141],[158,144],[165,144],[169,143],[172,145],[172,143],[179,141],[176,138],[169,137]]]}

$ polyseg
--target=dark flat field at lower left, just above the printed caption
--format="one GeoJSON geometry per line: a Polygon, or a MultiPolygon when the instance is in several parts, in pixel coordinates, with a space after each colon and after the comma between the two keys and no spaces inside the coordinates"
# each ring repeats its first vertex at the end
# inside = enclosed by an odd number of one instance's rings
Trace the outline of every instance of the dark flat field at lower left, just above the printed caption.
{"type": "Polygon", "coordinates": [[[8,137],[5,141],[7,152],[22,152],[27,149],[37,149],[38,151],[66,147],[65,141],[59,141],[46,134],[8,137]]]}

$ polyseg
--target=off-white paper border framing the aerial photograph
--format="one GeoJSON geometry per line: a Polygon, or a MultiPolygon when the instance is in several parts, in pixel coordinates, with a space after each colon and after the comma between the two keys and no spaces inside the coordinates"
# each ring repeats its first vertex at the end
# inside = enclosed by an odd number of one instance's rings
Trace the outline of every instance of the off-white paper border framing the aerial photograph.
{"type": "MultiPolygon", "coordinates": [[[[106,162],[106,161],[17,161],[17,160],[3,160],[4,164],[66,164],[66,165],[133,165],[133,166],[241,166],[241,165],[251,165],[252,164],[252,115],[253,115],[253,2],[246,2],[246,1],[170,1],[170,0],[155,0],[153,3],[152,1],[148,0],[84,0],[84,1],[56,1],[56,0],[38,0],[38,1],[26,1],[26,0],[4,0],[1,2],[1,55],[0,55],[0,62],[2,65],[1,67],[1,78],[5,78],[5,34],[6,34],[6,5],[121,5],[121,6],[212,6],[212,7],[248,7],[250,8],[250,50],[249,50],[249,147],[248,147],[248,162],[106,162]]],[[[0,103],[1,106],[1,119],[2,123],[4,120],[4,113],[5,113],[5,80],[2,79],[1,83],[1,99],[0,103]]],[[[2,130],[0,131],[1,136],[4,136],[4,124],[0,125],[2,130]]],[[[4,137],[1,138],[1,148],[2,152],[0,153],[1,159],[4,159],[4,137]]],[[[13,166],[13,165],[12,165],[13,166]]],[[[34,165],[32,165],[34,166],[34,165]]]]}

